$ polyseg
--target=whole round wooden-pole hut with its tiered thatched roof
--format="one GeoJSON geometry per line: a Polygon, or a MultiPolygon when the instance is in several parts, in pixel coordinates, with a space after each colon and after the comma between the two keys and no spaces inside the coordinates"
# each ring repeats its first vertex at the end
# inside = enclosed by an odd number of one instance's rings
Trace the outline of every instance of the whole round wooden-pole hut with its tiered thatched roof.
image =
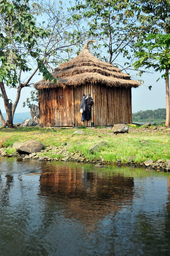
{"type": "Polygon", "coordinates": [[[107,126],[132,123],[131,88],[140,84],[121,69],[94,57],[88,41],[78,56],[52,72],[57,84],[41,80],[39,91],[40,124],[54,126],[107,126]],[[90,94],[94,104],[91,120],[81,121],[80,100],[90,94]]]}

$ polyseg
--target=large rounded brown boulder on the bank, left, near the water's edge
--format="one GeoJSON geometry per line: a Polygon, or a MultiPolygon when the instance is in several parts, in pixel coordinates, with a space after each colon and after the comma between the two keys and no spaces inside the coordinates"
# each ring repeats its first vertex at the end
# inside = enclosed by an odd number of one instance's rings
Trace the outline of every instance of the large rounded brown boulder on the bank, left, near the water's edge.
{"type": "Polygon", "coordinates": [[[19,154],[31,154],[34,152],[40,152],[44,145],[37,140],[27,140],[21,143],[17,148],[19,154]]]}

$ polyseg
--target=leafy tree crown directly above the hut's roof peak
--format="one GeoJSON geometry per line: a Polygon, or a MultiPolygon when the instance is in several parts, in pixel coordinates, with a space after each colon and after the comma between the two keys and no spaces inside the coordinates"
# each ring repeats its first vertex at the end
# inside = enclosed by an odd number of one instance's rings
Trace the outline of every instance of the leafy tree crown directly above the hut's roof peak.
{"type": "Polygon", "coordinates": [[[127,59],[132,60],[132,54],[135,52],[132,44],[140,37],[143,25],[139,26],[129,1],[86,0],[85,4],[78,2],[74,9],[80,10],[82,16],[87,19],[88,38],[94,37],[96,41],[101,41],[106,49],[101,51],[101,55],[97,49],[96,55],[113,65],[117,65],[118,56],[125,59],[125,63],[127,59]]]}

